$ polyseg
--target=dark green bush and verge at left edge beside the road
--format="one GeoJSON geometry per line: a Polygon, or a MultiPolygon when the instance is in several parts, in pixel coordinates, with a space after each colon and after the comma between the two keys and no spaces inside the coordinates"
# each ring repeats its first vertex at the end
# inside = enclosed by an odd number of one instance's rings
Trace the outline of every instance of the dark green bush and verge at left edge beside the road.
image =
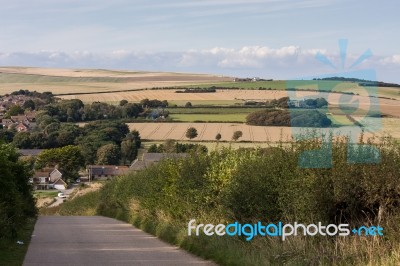
{"type": "Polygon", "coordinates": [[[15,148],[2,142],[0,173],[0,264],[22,265],[37,214],[31,171],[15,148]]]}

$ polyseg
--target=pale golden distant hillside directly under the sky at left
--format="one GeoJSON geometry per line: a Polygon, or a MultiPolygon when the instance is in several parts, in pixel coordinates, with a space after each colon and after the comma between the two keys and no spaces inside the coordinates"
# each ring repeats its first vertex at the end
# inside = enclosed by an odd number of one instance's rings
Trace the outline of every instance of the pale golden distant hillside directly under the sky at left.
{"type": "Polygon", "coordinates": [[[21,89],[54,94],[98,93],[232,81],[232,77],[195,73],[0,67],[0,95],[21,89]]]}

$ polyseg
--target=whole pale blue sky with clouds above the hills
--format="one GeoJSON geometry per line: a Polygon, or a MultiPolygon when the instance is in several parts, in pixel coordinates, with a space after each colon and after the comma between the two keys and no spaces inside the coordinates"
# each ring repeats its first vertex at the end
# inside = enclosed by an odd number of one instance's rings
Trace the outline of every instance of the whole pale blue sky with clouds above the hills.
{"type": "Polygon", "coordinates": [[[372,69],[400,83],[399,8],[396,0],[0,0],[0,65],[273,79],[372,69]]]}

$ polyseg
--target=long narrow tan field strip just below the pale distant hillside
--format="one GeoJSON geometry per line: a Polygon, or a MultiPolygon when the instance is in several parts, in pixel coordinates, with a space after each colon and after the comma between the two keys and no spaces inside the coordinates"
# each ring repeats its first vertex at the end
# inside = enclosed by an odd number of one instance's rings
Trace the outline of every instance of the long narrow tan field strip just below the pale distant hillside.
{"type": "MultiPolygon", "coordinates": [[[[158,99],[167,100],[171,103],[193,102],[204,105],[218,105],[218,103],[226,102],[228,105],[233,105],[235,102],[240,103],[249,100],[266,101],[279,99],[290,96],[291,98],[305,97],[324,97],[328,100],[330,106],[337,107],[339,103],[350,102],[351,105],[358,105],[358,109],[370,109],[371,105],[379,104],[379,109],[382,113],[400,117],[400,102],[394,99],[379,99],[370,98],[361,95],[346,95],[341,93],[318,93],[313,91],[269,91],[269,90],[217,90],[215,93],[175,93],[175,90],[143,90],[129,92],[113,92],[102,94],[81,94],[81,95],[66,95],[64,99],[80,99],[83,102],[113,102],[117,103],[123,99],[129,102],[139,102],[143,99],[158,99]]],[[[221,104],[223,105],[223,104],[221,104]]],[[[341,104],[345,107],[346,104],[341,104]]]]}

